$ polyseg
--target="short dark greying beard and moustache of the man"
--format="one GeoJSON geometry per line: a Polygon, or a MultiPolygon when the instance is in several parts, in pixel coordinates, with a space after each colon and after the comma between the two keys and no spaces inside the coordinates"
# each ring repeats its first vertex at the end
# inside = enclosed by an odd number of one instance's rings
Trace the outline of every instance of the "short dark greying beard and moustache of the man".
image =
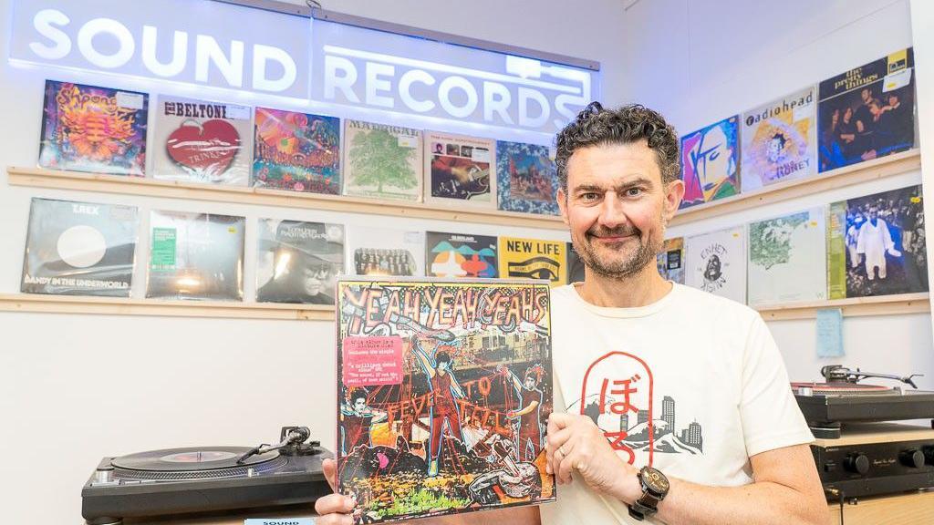
{"type": "Polygon", "coordinates": [[[656,261],[656,255],[662,247],[662,242],[658,241],[654,235],[649,234],[643,239],[643,232],[634,226],[620,226],[618,228],[604,228],[594,226],[584,234],[584,242],[574,242],[574,251],[577,252],[581,262],[591,271],[601,277],[612,279],[624,279],[633,277],[642,272],[648,264],[656,261]],[[634,251],[629,257],[619,261],[603,261],[597,255],[597,249],[593,245],[594,237],[604,236],[629,236],[630,241],[636,243],[634,251]]]}

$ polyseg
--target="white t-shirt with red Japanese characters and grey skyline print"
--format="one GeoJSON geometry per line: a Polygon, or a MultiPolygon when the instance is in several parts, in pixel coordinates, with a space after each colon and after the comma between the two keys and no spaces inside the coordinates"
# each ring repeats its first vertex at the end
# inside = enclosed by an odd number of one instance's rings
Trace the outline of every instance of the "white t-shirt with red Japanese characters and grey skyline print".
{"type": "MultiPolygon", "coordinates": [[[[750,456],[814,440],[769,329],[745,305],[679,284],[637,308],[590,305],[573,286],[551,297],[555,411],[596,419],[636,468],[738,486],[753,481],[750,456]]],[[[576,480],[542,522],[640,523],[576,480]]]]}

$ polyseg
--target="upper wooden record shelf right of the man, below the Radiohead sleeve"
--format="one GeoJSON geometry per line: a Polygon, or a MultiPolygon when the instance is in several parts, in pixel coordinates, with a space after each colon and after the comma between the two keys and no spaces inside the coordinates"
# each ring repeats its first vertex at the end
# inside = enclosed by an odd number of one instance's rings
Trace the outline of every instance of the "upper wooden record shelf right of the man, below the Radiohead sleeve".
{"type": "Polygon", "coordinates": [[[712,203],[678,210],[669,226],[679,226],[696,220],[710,219],[920,169],[921,153],[918,149],[910,149],[865,163],[845,166],[814,177],[787,180],[753,192],[740,193],[712,203]]]}

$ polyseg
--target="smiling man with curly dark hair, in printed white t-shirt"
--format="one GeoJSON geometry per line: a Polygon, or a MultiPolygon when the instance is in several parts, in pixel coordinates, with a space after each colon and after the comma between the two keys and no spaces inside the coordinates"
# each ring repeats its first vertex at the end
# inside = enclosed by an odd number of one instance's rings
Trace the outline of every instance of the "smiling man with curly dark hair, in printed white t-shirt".
{"type": "MultiPolygon", "coordinates": [[[[552,292],[547,469],[565,487],[542,521],[639,523],[631,508],[670,525],[827,523],[813,437],[765,323],[652,263],[684,192],[672,127],[643,106],[591,104],[559,134],[557,163],[561,215],[587,269],[552,292]],[[649,485],[660,503],[644,497],[649,485]]],[[[325,471],[333,478],[333,462],[325,471]]],[[[347,513],[353,502],[316,507],[347,513]]],[[[535,518],[524,508],[444,522],[535,518]]]]}

